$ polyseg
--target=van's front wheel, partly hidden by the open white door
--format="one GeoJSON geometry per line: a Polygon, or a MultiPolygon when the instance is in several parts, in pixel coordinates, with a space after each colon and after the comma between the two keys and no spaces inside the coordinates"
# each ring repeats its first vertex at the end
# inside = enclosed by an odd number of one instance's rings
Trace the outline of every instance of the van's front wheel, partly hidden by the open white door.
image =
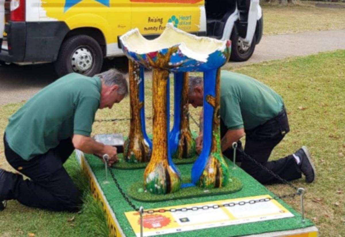
{"type": "Polygon", "coordinates": [[[247,61],[254,53],[256,37],[253,35],[252,45],[250,47],[243,44],[243,40],[239,35],[233,31],[230,37],[231,40],[231,54],[230,60],[236,62],[247,61]]]}

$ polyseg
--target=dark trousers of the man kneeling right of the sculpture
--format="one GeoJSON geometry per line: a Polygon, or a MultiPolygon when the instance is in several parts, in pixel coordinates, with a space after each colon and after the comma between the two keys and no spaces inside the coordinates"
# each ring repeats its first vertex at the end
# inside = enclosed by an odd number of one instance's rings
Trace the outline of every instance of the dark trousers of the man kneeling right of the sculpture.
{"type": "MultiPolygon", "coordinates": [[[[223,121],[221,121],[221,136],[223,137],[226,133],[226,128],[223,121]]],[[[244,152],[250,157],[254,158],[260,164],[273,171],[287,181],[295,180],[300,177],[301,171],[295,161],[293,155],[288,155],[284,158],[280,158],[276,161],[269,161],[268,158],[273,148],[283,140],[286,133],[289,130],[289,123],[285,109],[282,110],[276,117],[268,120],[263,125],[259,125],[252,130],[245,130],[246,132],[246,143],[244,152]]],[[[242,144],[238,149],[242,149],[242,144]]],[[[223,152],[229,158],[232,158],[233,149],[228,149],[223,152]]],[[[240,155],[239,159],[236,160],[241,162],[241,168],[244,169],[248,174],[253,176],[257,181],[262,184],[281,183],[279,179],[275,178],[263,168],[256,165],[249,158],[240,155]]]]}

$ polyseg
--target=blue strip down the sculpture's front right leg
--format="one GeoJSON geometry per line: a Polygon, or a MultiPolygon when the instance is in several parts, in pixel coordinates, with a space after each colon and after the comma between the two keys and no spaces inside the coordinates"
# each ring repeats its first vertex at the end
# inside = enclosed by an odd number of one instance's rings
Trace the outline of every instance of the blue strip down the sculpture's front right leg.
{"type": "Polygon", "coordinates": [[[206,102],[206,96],[215,96],[216,89],[216,75],[217,69],[204,72],[204,133],[203,133],[203,150],[195,161],[192,172],[191,180],[196,184],[203,173],[207,158],[210,154],[211,141],[212,141],[212,122],[213,122],[213,107],[206,102]]]}

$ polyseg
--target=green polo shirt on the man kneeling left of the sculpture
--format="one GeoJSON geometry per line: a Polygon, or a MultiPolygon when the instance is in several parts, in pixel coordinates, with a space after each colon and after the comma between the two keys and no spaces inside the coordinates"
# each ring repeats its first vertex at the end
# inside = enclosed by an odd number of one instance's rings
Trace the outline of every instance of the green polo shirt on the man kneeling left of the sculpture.
{"type": "Polygon", "coordinates": [[[44,154],[73,134],[90,136],[101,81],[71,73],[43,88],[9,118],[6,140],[25,160],[44,154]]]}

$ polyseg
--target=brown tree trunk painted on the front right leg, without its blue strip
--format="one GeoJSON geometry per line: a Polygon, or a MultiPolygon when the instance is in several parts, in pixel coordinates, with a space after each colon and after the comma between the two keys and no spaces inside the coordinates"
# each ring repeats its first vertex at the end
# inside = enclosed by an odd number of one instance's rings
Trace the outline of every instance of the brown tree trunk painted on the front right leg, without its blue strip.
{"type": "Polygon", "coordinates": [[[216,76],[215,97],[207,95],[206,101],[213,106],[212,143],[210,154],[198,186],[203,188],[224,187],[228,182],[229,169],[220,149],[220,69],[216,76]]]}

